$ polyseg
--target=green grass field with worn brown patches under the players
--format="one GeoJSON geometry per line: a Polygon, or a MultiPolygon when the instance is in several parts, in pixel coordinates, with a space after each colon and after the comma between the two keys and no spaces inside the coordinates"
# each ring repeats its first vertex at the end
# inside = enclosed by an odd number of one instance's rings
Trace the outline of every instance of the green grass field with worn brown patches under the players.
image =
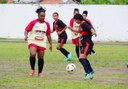
{"type": "MultiPolygon", "coordinates": [[[[84,81],[84,71],[74,52],[74,46],[65,45],[73,53],[77,66],[74,74],[68,74],[63,62],[65,57],[53,46],[53,52],[45,53],[45,77],[28,76],[29,53],[27,43],[0,42],[0,89],[128,89],[128,46],[98,45],[96,57],[89,56],[96,69],[93,80],[84,81]]],[[[37,64],[36,64],[37,70],[37,64]]]]}

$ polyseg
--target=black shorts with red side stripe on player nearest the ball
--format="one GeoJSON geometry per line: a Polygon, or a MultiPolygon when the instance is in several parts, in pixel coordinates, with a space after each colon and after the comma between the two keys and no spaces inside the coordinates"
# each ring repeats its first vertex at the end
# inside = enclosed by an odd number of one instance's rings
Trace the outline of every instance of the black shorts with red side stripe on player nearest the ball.
{"type": "Polygon", "coordinates": [[[81,54],[88,55],[91,54],[91,51],[93,49],[93,44],[90,42],[82,43],[82,46],[80,47],[81,54]]]}

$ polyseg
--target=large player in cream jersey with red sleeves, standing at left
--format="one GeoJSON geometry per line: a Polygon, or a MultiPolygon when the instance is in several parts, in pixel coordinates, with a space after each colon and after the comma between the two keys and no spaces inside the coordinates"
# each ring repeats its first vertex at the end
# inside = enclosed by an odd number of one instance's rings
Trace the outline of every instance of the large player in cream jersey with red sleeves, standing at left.
{"type": "Polygon", "coordinates": [[[35,72],[36,54],[38,56],[38,76],[43,77],[44,53],[46,50],[46,39],[50,44],[52,50],[51,30],[48,22],[45,21],[45,9],[42,7],[36,10],[38,19],[32,20],[25,28],[25,40],[28,41],[28,48],[30,52],[30,72],[29,76],[33,76],[35,72]],[[29,35],[28,35],[29,33],[29,35]]]}

